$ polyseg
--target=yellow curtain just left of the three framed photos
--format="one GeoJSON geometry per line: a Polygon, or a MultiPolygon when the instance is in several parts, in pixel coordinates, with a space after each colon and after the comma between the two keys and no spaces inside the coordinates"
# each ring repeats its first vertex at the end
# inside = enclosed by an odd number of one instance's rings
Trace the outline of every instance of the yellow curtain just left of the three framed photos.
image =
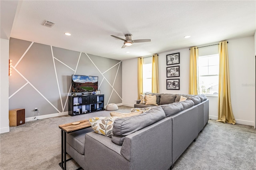
{"type": "Polygon", "coordinates": [[[152,93],[159,93],[158,54],[152,56],[152,93]]]}

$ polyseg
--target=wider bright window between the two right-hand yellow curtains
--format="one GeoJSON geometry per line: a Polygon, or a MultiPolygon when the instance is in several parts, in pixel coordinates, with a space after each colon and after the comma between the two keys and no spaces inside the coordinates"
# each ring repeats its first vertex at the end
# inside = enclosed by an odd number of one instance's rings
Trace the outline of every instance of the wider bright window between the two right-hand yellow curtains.
{"type": "Polygon", "coordinates": [[[218,95],[219,55],[198,57],[199,93],[218,95]]]}

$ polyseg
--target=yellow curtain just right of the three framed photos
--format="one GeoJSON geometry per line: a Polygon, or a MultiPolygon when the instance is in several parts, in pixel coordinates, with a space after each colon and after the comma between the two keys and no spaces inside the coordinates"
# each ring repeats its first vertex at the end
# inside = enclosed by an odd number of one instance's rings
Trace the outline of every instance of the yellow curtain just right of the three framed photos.
{"type": "Polygon", "coordinates": [[[189,69],[189,89],[188,94],[198,95],[198,48],[190,48],[190,69],[189,69]]]}

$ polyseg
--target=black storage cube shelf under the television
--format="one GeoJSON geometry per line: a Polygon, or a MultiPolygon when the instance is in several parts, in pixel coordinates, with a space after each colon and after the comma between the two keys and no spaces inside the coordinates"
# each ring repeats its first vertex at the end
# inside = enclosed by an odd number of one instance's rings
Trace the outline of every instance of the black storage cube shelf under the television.
{"type": "Polygon", "coordinates": [[[68,115],[76,116],[104,110],[104,95],[68,97],[68,115]]]}

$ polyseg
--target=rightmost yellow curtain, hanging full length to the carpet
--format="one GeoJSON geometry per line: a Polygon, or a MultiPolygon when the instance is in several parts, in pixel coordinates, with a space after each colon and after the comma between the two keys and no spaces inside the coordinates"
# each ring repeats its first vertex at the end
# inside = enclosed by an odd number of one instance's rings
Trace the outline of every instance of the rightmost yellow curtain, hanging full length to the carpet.
{"type": "Polygon", "coordinates": [[[219,43],[220,71],[219,71],[219,97],[218,97],[218,120],[222,123],[236,124],[234,118],[231,98],[230,98],[230,81],[229,81],[229,64],[228,64],[228,43],[223,41],[219,43]]]}

